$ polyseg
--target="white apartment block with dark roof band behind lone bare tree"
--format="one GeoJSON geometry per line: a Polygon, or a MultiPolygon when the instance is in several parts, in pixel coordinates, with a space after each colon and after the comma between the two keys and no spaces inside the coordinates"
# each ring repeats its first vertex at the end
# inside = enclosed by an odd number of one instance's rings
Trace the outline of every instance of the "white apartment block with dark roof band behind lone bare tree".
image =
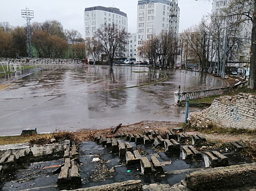
{"type": "Polygon", "coordinates": [[[128,28],[127,14],[113,7],[89,7],[84,9],[84,37],[92,38],[104,23],[115,23],[119,29],[128,28]]]}

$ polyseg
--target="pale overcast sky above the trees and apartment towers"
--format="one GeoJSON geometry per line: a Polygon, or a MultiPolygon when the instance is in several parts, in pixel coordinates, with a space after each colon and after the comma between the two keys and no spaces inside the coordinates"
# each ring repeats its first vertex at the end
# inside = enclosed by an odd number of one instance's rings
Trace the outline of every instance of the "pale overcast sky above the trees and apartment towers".
{"type": "MultiPolygon", "coordinates": [[[[116,7],[128,16],[128,31],[136,31],[136,10],[138,0],[0,0],[0,22],[9,22],[12,26],[24,26],[26,20],[21,17],[21,9],[29,8],[35,17],[31,22],[57,20],[64,29],[76,29],[84,37],[83,11],[86,7],[116,7]]],[[[197,25],[203,15],[211,13],[212,0],[179,0],[179,31],[197,25]]]]}

